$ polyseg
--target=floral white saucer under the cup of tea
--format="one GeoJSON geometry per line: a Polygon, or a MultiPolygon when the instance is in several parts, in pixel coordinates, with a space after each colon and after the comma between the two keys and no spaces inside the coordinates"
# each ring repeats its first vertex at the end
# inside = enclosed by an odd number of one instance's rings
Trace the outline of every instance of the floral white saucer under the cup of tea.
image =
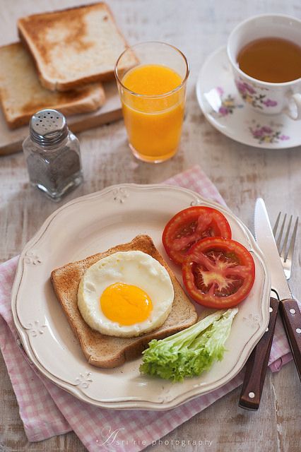
{"type": "Polygon", "coordinates": [[[196,82],[196,96],[206,119],[235,141],[268,149],[301,145],[300,121],[284,113],[267,116],[244,104],[225,47],[216,50],[203,64],[196,82]]]}

